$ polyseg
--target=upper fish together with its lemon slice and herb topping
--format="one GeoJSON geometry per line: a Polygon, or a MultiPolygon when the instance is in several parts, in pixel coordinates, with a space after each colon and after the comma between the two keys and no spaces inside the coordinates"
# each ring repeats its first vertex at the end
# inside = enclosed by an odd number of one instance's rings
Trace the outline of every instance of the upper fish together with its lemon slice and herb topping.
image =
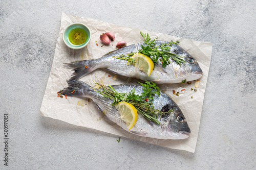
{"type": "Polygon", "coordinates": [[[150,45],[154,51],[147,52],[153,55],[152,58],[140,52],[142,48],[146,48],[145,46],[148,46],[145,42],[132,44],[109,52],[100,58],[75,61],[65,65],[74,70],[71,77],[73,80],[78,80],[99,68],[110,70],[121,76],[153,81],[158,84],[193,81],[202,77],[203,71],[196,58],[189,55],[177,43],[154,41],[150,45]],[[158,50],[159,47],[163,50],[158,50]],[[136,53],[137,55],[134,55],[136,53]],[[165,57],[156,57],[162,54],[165,57]]]}

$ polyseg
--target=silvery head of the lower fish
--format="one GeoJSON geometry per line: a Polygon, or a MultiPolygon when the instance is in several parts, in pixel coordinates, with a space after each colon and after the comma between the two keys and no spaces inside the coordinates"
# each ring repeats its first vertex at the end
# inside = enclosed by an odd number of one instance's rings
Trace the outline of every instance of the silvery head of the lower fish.
{"type": "Polygon", "coordinates": [[[169,111],[161,117],[161,128],[165,137],[169,139],[187,138],[190,133],[190,129],[180,108],[176,106],[171,107],[170,105],[165,105],[164,107],[165,109],[169,108],[169,111]]]}

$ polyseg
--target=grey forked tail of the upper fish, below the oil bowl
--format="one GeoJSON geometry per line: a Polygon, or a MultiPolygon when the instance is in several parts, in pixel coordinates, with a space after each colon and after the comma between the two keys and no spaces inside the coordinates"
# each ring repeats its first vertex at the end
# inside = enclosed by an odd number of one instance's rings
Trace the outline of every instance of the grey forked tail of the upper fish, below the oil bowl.
{"type": "Polygon", "coordinates": [[[78,80],[81,77],[89,74],[93,70],[95,70],[95,62],[93,60],[83,60],[83,61],[75,61],[71,63],[65,63],[65,66],[68,68],[72,68],[74,70],[71,80],[78,80]]]}

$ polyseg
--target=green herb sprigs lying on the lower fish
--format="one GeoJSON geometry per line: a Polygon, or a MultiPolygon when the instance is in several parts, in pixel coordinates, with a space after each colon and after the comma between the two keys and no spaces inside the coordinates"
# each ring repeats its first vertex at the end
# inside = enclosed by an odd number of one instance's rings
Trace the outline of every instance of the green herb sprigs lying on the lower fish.
{"type": "MultiPolygon", "coordinates": [[[[132,104],[138,113],[143,115],[146,119],[160,124],[158,121],[158,114],[165,114],[160,110],[154,108],[153,101],[154,96],[160,95],[160,89],[157,87],[156,83],[145,81],[145,83],[140,83],[143,86],[143,92],[141,94],[135,94],[135,88],[133,88],[129,93],[119,93],[112,86],[105,86],[96,83],[101,88],[94,89],[105,98],[113,100],[112,106],[116,105],[118,102],[127,102],[132,104]]],[[[172,111],[172,110],[170,110],[172,111]]]]}

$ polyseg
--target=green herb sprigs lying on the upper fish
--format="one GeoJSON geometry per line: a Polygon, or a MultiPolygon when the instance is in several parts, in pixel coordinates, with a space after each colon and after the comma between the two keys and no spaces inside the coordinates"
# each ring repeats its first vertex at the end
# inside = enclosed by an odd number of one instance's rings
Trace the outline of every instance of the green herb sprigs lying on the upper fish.
{"type": "MultiPolygon", "coordinates": [[[[140,32],[141,36],[144,38],[144,43],[146,44],[141,45],[141,49],[138,50],[138,53],[142,53],[152,59],[154,64],[158,62],[159,57],[161,58],[160,61],[162,62],[162,66],[165,68],[168,64],[170,64],[170,58],[172,58],[177,64],[182,65],[182,63],[185,63],[185,61],[182,59],[182,56],[179,56],[177,54],[170,52],[170,47],[173,44],[179,43],[179,41],[174,42],[173,40],[168,43],[163,43],[160,45],[156,45],[156,39],[151,40],[150,36],[148,34],[144,34],[140,32]]],[[[131,58],[135,52],[128,53],[128,54],[122,54],[120,56],[115,56],[116,59],[123,59],[127,60],[131,58]]],[[[132,60],[129,60],[129,62],[133,62],[132,60]]]]}

